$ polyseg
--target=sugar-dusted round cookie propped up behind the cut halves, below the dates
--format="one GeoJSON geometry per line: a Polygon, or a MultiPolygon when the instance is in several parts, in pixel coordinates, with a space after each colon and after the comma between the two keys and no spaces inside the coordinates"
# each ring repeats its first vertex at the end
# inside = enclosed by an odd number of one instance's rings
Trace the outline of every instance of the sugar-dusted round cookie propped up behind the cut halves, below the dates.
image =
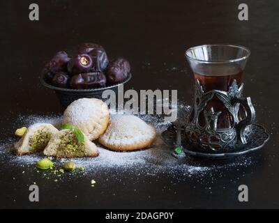
{"type": "Polygon", "coordinates": [[[103,134],[110,122],[107,104],[96,98],[80,98],[64,111],[63,123],[70,123],[93,141],[103,134]]]}

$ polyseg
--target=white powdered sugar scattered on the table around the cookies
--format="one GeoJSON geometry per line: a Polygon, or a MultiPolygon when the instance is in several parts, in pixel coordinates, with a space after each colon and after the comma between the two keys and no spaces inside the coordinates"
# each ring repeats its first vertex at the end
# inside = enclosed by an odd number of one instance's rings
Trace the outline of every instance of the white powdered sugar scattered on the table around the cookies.
{"type": "MultiPolygon", "coordinates": [[[[113,112],[112,112],[113,113],[113,112]]],[[[115,114],[115,112],[114,112],[115,114]]],[[[61,167],[63,162],[68,160],[76,162],[78,167],[84,167],[85,174],[94,174],[97,171],[114,171],[118,169],[122,172],[129,171],[134,174],[169,174],[172,176],[203,176],[204,174],[212,174],[213,171],[223,171],[224,169],[234,169],[235,167],[248,166],[252,164],[249,157],[239,157],[234,159],[233,162],[227,162],[225,164],[206,164],[199,162],[191,157],[183,157],[181,160],[177,160],[171,155],[171,149],[167,148],[160,139],[160,132],[166,130],[170,123],[163,122],[161,116],[156,115],[140,115],[144,121],[152,123],[157,130],[158,137],[155,144],[151,148],[146,148],[142,151],[133,152],[114,152],[102,148],[100,144],[96,143],[100,155],[98,157],[82,157],[74,159],[58,159],[54,160],[56,167],[61,167]]],[[[33,123],[52,123],[56,127],[61,122],[61,116],[47,115],[47,116],[20,116],[17,123],[29,126],[33,123]]],[[[33,166],[36,161],[42,158],[42,155],[14,155],[10,148],[13,147],[15,141],[18,138],[6,137],[5,140],[0,141],[0,162],[5,162],[10,166],[33,166]]],[[[220,173],[219,173],[220,174],[220,173]]]]}

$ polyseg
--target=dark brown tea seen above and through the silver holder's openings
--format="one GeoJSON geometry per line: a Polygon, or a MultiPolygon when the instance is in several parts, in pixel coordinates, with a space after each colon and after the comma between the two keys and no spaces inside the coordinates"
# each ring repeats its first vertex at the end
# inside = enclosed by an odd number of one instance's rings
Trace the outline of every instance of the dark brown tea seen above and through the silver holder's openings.
{"type": "MultiPolygon", "coordinates": [[[[229,86],[232,85],[234,79],[236,79],[237,84],[241,84],[243,70],[238,66],[224,65],[224,64],[199,64],[194,72],[195,79],[199,80],[199,83],[202,85],[204,92],[211,90],[221,90],[228,91],[229,86]]],[[[208,111],[213,107],[215,112],[222,112],[218,116],[217,128],[225,129],[232,128],[234,123],[234,118],[230,114],[229,110],[225,107],[223,102],[214,96],[206,105],[204,110],[208,111]]],[[[241,108],[239,112],[239,118],[242,119],[245,114],[241,108]]],[[[199,125],[203,126],[205,123],[204,114],[201,112],[199,114],[199,125]]]]}

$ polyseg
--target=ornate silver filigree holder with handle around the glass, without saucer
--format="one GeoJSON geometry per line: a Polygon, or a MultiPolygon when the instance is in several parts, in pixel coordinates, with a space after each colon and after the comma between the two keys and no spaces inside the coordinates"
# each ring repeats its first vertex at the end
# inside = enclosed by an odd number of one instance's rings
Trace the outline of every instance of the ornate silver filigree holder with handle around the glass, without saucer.
{"type": "Polygon", "coordinates": [[[199,151],[206,153],[224,153],[234,148],[245,146],[250,134],[250,125],[255,120],[255,109],[250,98],[242,98],[243,84],[237,86],[236,80],[229,91],[213,90],[204,93],[199,81],[195,80],[195,98],[191,115],[186,124],[186,134],[190,143],[199,151]],[[232,117],[229,128],[218,128],[218,118],[223,111],[215,111],[214,107],[205,109],[207,103],[218,98],[232,117]],[[246,110],[246,118],[239,120],[240,105],[246,110]],[[204,120],[199,123],[199,117],[204,120]]]}

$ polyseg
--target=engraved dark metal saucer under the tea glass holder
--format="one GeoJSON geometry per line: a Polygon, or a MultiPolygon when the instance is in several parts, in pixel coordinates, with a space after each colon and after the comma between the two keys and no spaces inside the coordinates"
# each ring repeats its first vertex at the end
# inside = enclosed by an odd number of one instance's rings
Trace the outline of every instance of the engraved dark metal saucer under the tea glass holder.
{"type": "MultiPolygon", "coordinates": [[[[269,134],[266,132],[265,128],[262,125],[252,124],[251,125],[252,132],[248,136],[250,140],[243,148],[235,148],[233,152],[227,153],[200,153],[194,151],[190,145],[187,143],[186,134],[184,130],[181,130],[181,148],[186,155],[194,156],[194,157],[204,157],[209,159],[225,159],[229,157],[235,157],[237,155],[243,155],[246,153],[250,153],[252,151],[257,151],[259,148],[262,148],[266,141],[269,141],[269,134]]],[[[176,127],[175,125],[170,125],[167,130],[162,132],[161,138],[164,143],[169,148],[174,148],[176,146],[176,127]]]]}

